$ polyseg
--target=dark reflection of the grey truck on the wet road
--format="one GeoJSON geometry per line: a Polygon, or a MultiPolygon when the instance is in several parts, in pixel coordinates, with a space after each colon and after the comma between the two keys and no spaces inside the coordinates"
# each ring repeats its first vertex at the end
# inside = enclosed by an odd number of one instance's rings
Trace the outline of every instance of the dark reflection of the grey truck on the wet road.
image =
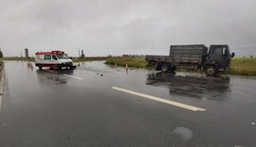
{"type": "Polygon", "coordinates": [[[169,73],[149,73],[147,84],[155,87],[166,87],[170,95],[181,95],[189,98],[208,97],[221,101],[221,96],[229,92],[229,76],[206,77],[200,75],[175,75],[169,73]]]}

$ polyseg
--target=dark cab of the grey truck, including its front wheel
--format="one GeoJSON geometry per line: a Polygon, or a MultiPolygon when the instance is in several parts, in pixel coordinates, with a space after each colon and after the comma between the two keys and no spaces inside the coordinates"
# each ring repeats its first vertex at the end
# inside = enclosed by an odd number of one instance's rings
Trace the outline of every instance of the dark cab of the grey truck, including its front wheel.
{"type": "Polygon", "coordinates": [[[204,69],[207,74],[213,75],[219,71],[227,71],[230,67],[231,57],[229,46],[226,45],[210,45],[209,54],[207,56],[204,69]]]}

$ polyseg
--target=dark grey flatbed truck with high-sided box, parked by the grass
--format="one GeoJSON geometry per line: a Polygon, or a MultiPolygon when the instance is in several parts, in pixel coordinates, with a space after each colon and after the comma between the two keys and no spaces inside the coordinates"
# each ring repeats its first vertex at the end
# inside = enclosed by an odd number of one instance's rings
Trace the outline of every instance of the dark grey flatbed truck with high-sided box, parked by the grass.
{"type": "Polygon", "coordinates": [[[220,71],[227,72],[231,57],[235,54],[229,51],[228,44],[210,45],[171,45],[169,56],[146,56],[148,67],[155,67],[156,71],[164,73],[174,72],[177,68],[204,70],[208,75],[215,75],[220,71]]]}

